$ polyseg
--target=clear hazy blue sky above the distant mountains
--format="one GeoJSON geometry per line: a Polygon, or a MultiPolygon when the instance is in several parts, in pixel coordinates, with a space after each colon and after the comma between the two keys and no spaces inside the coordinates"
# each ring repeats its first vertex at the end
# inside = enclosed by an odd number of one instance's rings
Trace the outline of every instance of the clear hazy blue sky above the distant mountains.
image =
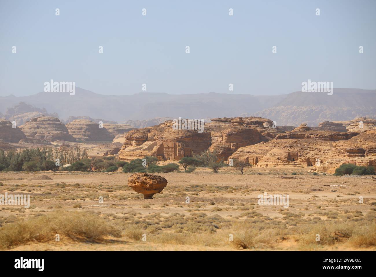
{"type": "Polygon", "coordinates": [[[375,11],[374,0],[0,0],[0,96],[35,94],[50,79],[100,94],[142,83],[170,94],[285,94],[308,79],[375,89],[375,11]]]}

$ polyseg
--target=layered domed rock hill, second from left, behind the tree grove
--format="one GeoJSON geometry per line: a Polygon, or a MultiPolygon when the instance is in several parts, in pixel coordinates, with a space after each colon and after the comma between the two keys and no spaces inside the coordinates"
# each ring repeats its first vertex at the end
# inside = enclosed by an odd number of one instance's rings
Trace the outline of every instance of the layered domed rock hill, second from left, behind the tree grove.
{"type": "Polygon", "coordinates": [[[72,135],[68,133],[67,127],[64,123],[60,122],[59,118],[47,117],[41,115],[27,121],[21,130],[27,138],[42,139],[45,141],[76,141],[72,135]]]}

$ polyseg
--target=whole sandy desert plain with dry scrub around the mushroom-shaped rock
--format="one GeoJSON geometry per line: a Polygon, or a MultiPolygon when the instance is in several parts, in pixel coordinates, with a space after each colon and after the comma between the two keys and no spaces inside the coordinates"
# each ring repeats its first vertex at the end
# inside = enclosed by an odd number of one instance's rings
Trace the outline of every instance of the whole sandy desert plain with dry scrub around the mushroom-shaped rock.
{"type": "Polygon", "coordinates": [[[1,206],[0,225],[6,228],[0,234],[0,247],[243,251],[376,248],[373,176],[314,175],[304,167],[251,167],[244,169],[244,175],[230,167],[218,173],[197,168],[193,173],[159,173],[167,179],[167,186],[153,199],[143,199],[127,186],[131,175],[120,170],[1,172],[0,194],[30,194],[30,207],[1,206]],[[289,206],[259,205],[258,195],[264,192],[288,195],[289,206]]]}

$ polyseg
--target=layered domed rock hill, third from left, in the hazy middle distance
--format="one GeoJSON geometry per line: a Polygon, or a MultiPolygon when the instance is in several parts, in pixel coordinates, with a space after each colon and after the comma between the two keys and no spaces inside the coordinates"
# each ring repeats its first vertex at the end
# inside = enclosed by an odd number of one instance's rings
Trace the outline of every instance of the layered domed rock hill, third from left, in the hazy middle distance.
{"type": "Polygon", "coordinates": [[[115,138],[105,127],[100,128],[98,123],[89,120],[73,120],[66,126],[68,132],[81,141],[112,141],[115,138]]]}

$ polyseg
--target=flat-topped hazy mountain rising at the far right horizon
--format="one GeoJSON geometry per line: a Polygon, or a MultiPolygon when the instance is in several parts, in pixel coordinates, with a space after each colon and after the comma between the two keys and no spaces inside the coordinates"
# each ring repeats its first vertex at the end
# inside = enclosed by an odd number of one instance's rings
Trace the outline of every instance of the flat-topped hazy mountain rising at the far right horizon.
{"type": "Polygon", "coordinates": [[[365,116],[376,118],[376,90],[334,89],[325,92],[293,92],[268,109],[256,112],[258,117],[270,118],[277,125],[297,126],[307,123],[317,126],[324,121],[352,120],[365,116]]]}

